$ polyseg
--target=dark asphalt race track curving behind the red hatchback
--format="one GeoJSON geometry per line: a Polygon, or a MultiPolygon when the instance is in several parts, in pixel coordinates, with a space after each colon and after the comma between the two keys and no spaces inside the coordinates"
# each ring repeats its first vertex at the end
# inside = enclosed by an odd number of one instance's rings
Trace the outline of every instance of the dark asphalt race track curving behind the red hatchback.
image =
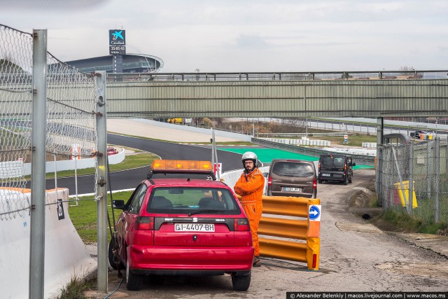
{"type": "MultiPolygon", "coordinates": [[[[109,144],[128,146],[142,151],[156,153],[162,159],[211,160],[211,148],[202,146],[174,144],[165,141],[139,139],[116,134],[107,134],[107,141],[109,144]]],[[[223,163],[224,172],[241,169],[241,155],[237,153],[218,151],[218,158],[219,162],[223,163]]],[[[137,187],[141,181],[146,179],[148,171],[149,164],[148,167],[130,169],[123,172],[111,172],[110,183],[112,190],[124,190],[137,187]]],[[[78,176],[78,194],[93,193],[93,180],[93,175],[78,176]]],[[[69,188],[70,195],[76,194],[75,179],[73,177],[57,179],[57,186],[69,188]]],[[[55,180],[46,180],[46,188],[55,188],[55,180]]]]}

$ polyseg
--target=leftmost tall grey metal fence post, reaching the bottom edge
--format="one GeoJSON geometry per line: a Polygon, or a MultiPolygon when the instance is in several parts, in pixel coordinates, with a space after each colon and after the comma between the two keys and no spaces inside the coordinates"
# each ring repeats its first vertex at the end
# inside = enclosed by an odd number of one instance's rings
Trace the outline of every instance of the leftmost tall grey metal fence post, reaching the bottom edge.
{"type": "Polygon", "coordinates": [[[33,30],[33,118],[29,298],[43,298],[45,266],[45,143],[47,116],[47,31],[33,30]]]}

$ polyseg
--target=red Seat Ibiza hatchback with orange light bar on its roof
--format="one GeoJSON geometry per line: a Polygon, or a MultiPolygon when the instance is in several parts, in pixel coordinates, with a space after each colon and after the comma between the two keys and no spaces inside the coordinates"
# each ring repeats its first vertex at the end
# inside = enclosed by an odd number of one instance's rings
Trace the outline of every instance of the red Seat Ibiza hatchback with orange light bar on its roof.
{"type": "Polygon", "coordinates": [[[207,174],[211,163],[155,160],[123,209],[109,244],[109,263],[126,267],[127,289],[148,274],[232,276],[235,291],[251,284],[253,246],[248,219],[233,190],[210,179],[155,179],[153,174],[207,174]]]}

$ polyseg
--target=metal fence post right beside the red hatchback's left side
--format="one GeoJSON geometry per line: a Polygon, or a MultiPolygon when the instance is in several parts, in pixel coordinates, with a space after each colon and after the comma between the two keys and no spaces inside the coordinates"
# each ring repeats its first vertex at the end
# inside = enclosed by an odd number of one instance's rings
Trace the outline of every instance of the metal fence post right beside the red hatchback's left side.
{"type": "Polygon", "coordinates": [[[98,291],[107,293],[107,127],[106,127],[106,71],[97,76],[97,253],[98,291]]]}

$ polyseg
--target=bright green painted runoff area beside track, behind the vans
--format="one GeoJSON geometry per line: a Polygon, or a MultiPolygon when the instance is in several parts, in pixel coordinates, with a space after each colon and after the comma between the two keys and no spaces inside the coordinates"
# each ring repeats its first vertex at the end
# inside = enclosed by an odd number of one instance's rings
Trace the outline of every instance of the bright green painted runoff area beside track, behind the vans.
{"type": "MultiPolygon", "coordinates": [[[[257,155],[258,160],[263,163],[270,163],[274,159],[294,159],[294,160],[307,160],[307,161],[318,161],[319,158],[312,157],[311,155],[302,155],[300,153],[291,153],[289,151],[281,151],[275,148],[219,148],[220,151],[230,151],[232,153],[246,153],[246,151],[252,151],[257,155]]],[[[353,169],[365,169],[373,168],[369,165],[358,165],[356,164],[353,169]]]]}

